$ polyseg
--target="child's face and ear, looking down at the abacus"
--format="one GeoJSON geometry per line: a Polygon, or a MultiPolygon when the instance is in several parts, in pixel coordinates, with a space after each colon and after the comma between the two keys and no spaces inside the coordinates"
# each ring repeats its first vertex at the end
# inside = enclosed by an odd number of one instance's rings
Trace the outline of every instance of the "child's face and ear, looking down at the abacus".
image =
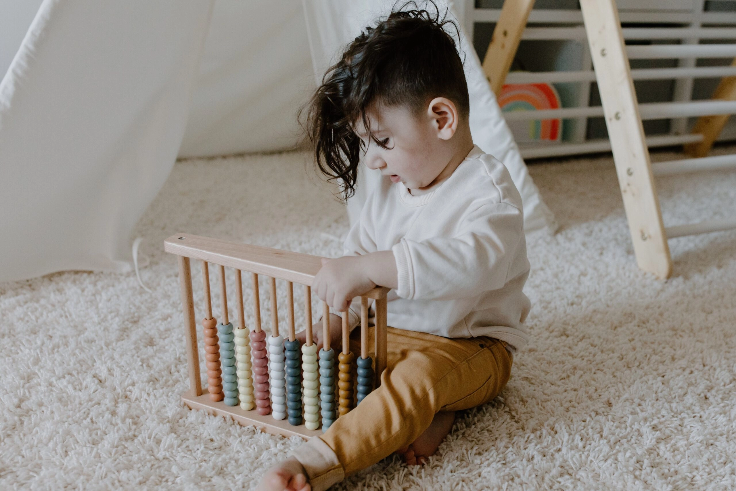
{"type": "MultiPolygon", "coordinates": [[[[439,99],[444,98],[432,102],[439,99]]],[[[396,106],[367,111],[371,132],[386,148],[368,139],[363,122],[358,121],[355,133],[363,140],[364,162],[369,169],[379,169],[394,183],[403,182],[409,189],[430,186],[453,155],[447,140],[454,134],[456,121],[449,121],[452,128],[448,136],[447,120],[453,115],[447,112],[453,112],[454,106],[447,109],[430,103],[428,110],[419,115],[396,106]]]]}

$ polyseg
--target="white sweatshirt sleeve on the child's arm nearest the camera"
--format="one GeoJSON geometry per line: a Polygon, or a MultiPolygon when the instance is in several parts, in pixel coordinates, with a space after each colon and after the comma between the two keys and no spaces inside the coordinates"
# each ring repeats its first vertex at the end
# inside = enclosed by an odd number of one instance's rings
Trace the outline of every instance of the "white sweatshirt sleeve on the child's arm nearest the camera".
{"type": "Polygon", "coordinates": [[[392,247],[396,294],[409,300],[456,300],[500,289],[523,233],[522,211],[500,202],[467,215],[453,237],[401,239],[392,247]]]}

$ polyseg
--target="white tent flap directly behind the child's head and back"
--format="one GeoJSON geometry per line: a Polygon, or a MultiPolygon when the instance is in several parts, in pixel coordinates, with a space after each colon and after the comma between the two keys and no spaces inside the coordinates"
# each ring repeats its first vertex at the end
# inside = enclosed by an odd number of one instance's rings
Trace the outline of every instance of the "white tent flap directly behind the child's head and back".
{"type": "MultiPolygon", "coordinates": [[[[389,13],[394,3],[393,0],[303,0],[316,80],[322,80],[325,71],[339,60],[344,47],[364,27],[375,24],[375,19],[389,13]]],[[[445,13],[447,3],[439,0],[436,4],[439,12],[445,13]]],[[[459,46],[461,56],[464,57],[465,78],[470,93],[470,133],[473,141],[509,169],[523,199],[526,232],[554,230],[554,216],[531,180],[519,147],[500,112],[495,94],[486,81],[478,55],[465,37],[461,29],[462,23],[453,15],[453,10],[447,10],[447,15],[459,27],[459,46]]],[[[347,203],[351,223],[360,215],[368,194],[378,186],[380,180],[380,171],[360,166],[355,196],[347,203]]]]}

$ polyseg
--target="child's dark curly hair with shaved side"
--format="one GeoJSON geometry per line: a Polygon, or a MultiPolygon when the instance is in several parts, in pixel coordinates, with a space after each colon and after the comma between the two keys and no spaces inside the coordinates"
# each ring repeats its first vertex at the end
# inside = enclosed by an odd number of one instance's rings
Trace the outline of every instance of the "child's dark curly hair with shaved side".
{"type": "Polygon", "coordinates": [[[383,146],[370,131],[366,110],[372,105],[403,106],[418,115],[431,99],[444,96],[461,117],[470,113],[463,62],[445,30],[452,25],[459,43],[457,24],[446,19],[446,10],[440,15],[434,1],[422,4],[434,6],[434,13],[417,1],[394,4],[388,17],[361,32],[299,112],[317,168],[328,180],[342,180],[344,200],[355,193],[363,148],[354,132],[356,121],[362,120],[369,138],[383,146]]]}

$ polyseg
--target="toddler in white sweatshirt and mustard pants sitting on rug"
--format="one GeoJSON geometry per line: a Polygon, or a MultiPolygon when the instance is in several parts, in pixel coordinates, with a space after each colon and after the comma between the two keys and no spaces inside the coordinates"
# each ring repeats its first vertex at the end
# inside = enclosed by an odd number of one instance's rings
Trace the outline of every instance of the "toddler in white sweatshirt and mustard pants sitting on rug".
{"type": "MultiPolygon", "coordinates": [[[[356,296],[392,289],[387,367],[378,389],[269,469],[259,489],[325,490],[394,452],[425,462],[455,411],[498,395],[528,341],[521,198],[503,164],[473,144],[448,23],[394,10],[347,46],[308,106],[317,165],[339,178],[344,198],[359,160],[382,174],[344,255],[323,260],[312,288],[333,310],[350,310],[351,328],[356,296]]],[[[321,347],[319,325],[314,333],[321,347]]],[[[333,345],[341,334],[330,314],[333,345]]],[[[351,336],[353,353],[358,342],[351,336]]]]}

